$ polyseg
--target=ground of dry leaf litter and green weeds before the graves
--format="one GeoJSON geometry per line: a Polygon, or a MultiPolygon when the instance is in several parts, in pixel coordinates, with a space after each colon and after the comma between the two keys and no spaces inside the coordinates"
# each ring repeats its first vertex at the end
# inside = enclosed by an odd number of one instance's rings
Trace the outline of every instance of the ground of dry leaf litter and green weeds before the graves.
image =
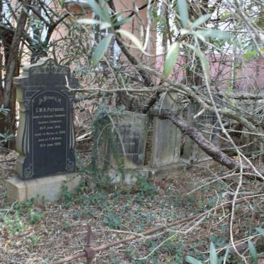
{"type": "MultiPolygon", "coordinates": [[[[77,155],[85,167],[89,163],[87,153],[79,150],[77,155]]],[[[79,165],[84,183],[75,194],[65,190],[60,201],[40,206],[33,201],[6,201],[4,180],[16,176],[15,160],[15,152],[1,148],[0,263],[53,263],[82,252],[87,243],[88,225],[95,235],[94,246],[100,246],[131,233],[184,219],[229,201],[231,190],[236,189],[238,182],[238,177],[234,176],[215,181],[226,172],[219,166],[211,169],[205,166],[192,167],[170,179],[138,180],[133,187],[119,184],[112,189],[92,190],[85,184],[89,173],[79,165]],[[211,184],[207,185],[208,182],[211,184]],[[188,194],[197,187],[201,188],[188,194]]],[[[263,183],[243,180],[241,192],[238,197],[263,193],[263,183]]],[[[186,255],[207,260],[210,241],[219,250],[219,256],[224,255],[226,251],[222,248],[230,244],[229,216],[229,209],[211,211],[202,219],[101,251],[94,263],[185,263],[186,255]]],[[[263,224],[263,216],[261,196],[237,206],[233,220],[234,241],[253,238],[257,251],[263,252],[263,238],[254,229],[263,224]]],[[[229,254],[228,263],[238,261],[239,258],[229,254]]],[[[72,263],[86,263],[86,260],[82,258],[72,263]]],[[[248,263],[251,263],[250,257],[248,263]]]]}

